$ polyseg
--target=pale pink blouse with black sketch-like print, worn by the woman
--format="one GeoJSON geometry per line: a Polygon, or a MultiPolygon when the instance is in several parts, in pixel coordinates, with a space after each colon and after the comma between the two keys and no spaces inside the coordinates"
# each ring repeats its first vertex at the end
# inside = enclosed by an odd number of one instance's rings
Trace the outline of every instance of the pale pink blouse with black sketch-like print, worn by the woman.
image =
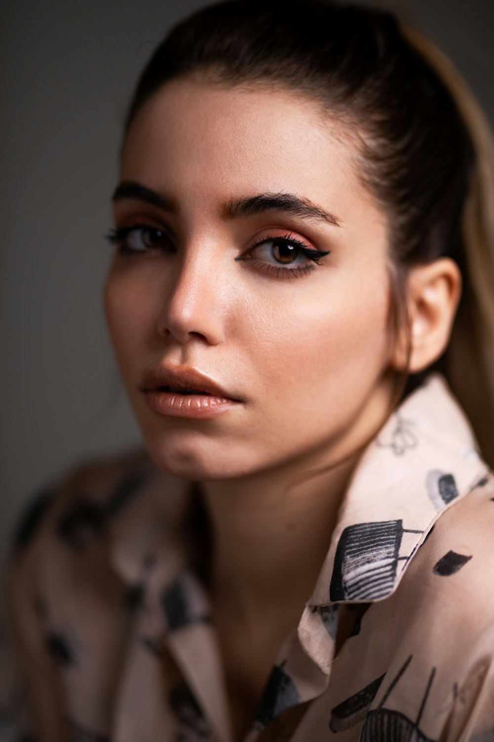
{"type": "MultiPolygon", "coordinates": [[[[205,530],[193,483],[141,455],[33,501],[4,581],[2,741],[233,742],[205,530]]],[[[494,478],[440,375],[367,447],[328,543],[244,742],[493,742],[494,478]]]]}

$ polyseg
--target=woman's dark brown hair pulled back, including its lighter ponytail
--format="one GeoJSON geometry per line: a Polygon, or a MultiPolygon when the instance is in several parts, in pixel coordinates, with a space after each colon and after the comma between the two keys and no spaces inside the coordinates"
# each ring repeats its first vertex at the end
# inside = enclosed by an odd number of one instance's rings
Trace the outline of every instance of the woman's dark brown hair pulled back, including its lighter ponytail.
{"type": "Polygon", "coordinates": [[[494,145],[450,62],[382,10],[330,0],[227,0],[198,10],[158,46],[125,131],[161,85],[198,72],[222,84],[306,94],[357,137],[361,177],[389,223],[396,332],[410,332],[407,270],[443,256],[458,263],[463,294],[435,367],[493,464],[494,145]]]}

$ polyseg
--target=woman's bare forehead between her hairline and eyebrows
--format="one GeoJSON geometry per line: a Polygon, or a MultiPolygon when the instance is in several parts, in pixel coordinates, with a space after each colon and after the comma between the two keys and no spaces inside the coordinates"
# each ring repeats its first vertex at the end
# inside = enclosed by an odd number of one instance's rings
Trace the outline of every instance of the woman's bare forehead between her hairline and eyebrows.
{"type": "Polygon", "coordinates": [[[196,204],[290,191],[344,218],[356,200],[373,209],[358,168],[356,138],[307,96],[181,79],[138,112],[121,180],[196,204]]]}

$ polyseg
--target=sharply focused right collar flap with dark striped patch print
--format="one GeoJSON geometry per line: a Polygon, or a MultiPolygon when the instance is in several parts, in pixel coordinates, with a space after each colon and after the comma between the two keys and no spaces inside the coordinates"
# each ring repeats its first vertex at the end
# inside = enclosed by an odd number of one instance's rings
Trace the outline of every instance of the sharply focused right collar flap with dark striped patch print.
{"type": "Polygon", "coordinates": [[[430,375],[361,456],[310,604],[393,593],[435,520],[486,473],[458,402],[430,375]]]}

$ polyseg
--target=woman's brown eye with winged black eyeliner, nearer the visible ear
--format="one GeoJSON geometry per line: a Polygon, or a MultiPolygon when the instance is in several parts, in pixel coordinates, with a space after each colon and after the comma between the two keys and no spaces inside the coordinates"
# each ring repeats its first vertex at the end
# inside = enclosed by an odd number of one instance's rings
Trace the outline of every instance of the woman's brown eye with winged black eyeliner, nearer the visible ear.
{"type": "Polygon", "coordinates": [[[281,275],[290,278],[290,274],[307,272],[313,268],[313,264],[319,265],[319,260],[330,251],[315,250],[295,237],[293,234],[285,234],[281,237],[270,237],[267,235],[251,246],[244,255],[236,260],[254,260],[258,268],[270,273],[276,272],[276,277],[281,275]]]}

